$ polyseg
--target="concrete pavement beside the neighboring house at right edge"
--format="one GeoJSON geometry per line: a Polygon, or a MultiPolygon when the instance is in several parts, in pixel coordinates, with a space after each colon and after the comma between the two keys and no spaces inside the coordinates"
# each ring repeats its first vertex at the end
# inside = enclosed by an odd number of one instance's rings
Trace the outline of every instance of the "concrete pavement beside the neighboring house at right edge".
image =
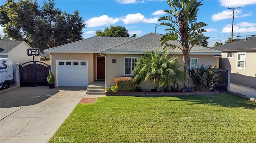
{"type": "Polygon", "coordinates": [[[249,99],[256,102],[256,89],[240,84],[230,83],[230,90],[228,92],[237,96],[249,99]]]}

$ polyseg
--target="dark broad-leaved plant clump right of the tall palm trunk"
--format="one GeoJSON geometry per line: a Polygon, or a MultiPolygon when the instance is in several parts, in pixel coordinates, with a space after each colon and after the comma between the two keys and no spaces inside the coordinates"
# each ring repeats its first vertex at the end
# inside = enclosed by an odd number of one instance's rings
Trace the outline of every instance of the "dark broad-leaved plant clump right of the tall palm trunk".
{"type": "Polygon", "coordinates": [[[189,76],[194,82],[195,91],[209,91],[210,86],[221,79],[218,78],[220,73],[216,74],[216,71],[217,68],[212,67],[211,65],[208,65],[207,69],[202,65],[200,68],[189,70],[189,76]]]}

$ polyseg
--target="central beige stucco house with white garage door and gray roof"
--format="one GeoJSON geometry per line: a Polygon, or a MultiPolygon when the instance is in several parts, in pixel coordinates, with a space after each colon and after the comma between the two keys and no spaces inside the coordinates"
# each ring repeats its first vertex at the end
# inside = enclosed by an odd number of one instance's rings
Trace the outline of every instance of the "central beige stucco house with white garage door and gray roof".
{"type": "MultiPolygon", "coordinates": [[[[149,33],[142,37],[91,37],[44,50],[51,54],[56,86],[88,86],[95,80],[105,80],[106,87],[115,85],[115,77],[130,76],[136,60],[145,51],[162,49],[162,35],[149,33]]],[[[179,45],[177,41],[172,44],[179,45]]],[[[190,51],[190,67],[219,65],[220,51],[195,45],[190,51]]],[[[182,63],[182,52],[170,52],[182,63]]],[[[192,83],[192,81],[190,82],[192,83]]],[[[142,89],[151,89],[151,82],[142,82],[142,89]]]]}

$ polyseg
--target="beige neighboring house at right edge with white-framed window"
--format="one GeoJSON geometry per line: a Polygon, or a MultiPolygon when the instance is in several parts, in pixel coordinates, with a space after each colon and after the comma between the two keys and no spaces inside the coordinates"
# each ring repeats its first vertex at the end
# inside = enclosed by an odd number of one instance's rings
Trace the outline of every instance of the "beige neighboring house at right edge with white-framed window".
{"type": "Polygon", "coordinates": [[[221,67],[231,70],[230,82],[256,88],[256,35],[213,49],[222,51],[221,67]]]}

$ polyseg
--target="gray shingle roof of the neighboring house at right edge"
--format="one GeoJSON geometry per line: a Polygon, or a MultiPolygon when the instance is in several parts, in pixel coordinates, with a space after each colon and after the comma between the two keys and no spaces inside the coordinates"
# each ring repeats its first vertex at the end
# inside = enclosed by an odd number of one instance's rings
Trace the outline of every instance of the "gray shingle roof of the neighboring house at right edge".
{"type": "Polygon", "coordinates": [[[255,51],[256,50],[256,35],[232,43],[224,44],[213,49],[219,51],[255,51]]]}

